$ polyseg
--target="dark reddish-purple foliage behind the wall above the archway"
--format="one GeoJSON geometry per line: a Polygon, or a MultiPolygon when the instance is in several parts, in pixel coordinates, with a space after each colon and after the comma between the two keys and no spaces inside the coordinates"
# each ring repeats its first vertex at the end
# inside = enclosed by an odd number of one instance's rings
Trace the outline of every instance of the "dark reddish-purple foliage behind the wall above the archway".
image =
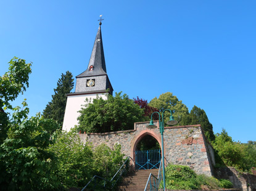
{"type": "MultiPolygon", "coordinates": [[[[159,112],[159,110],[157,108],[151,107],[149,105],[149,103],[147,103],[147,100],[144,99],[139,99],[139,97],[137,96],[137,98],[133,98],[134,103],[138,104],[140,108],[142,108],[144,110],[144,115],[146,116],[148,119],[148,121],[151,119],[151,114],[154,112],[159,112]]],[[[157,116],[153,116],[153,120],[157,120],[157,116]]]]}

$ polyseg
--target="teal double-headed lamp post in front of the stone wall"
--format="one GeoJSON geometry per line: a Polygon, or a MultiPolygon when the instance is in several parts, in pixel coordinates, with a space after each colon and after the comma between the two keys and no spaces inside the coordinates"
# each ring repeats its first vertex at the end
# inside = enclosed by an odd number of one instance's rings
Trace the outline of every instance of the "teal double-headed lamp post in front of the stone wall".
{"type": "MultiPolygon", "coordinates": [[[[166,110],[163,110],[163,113],[165,113],[165,111],[167,111],[167,110],[171,112],[171,110],[166,109],[166,110]]],[[[161,134],[161,140],[162,140],[163,190],[165,190],[165,155],[164,155],[164,153],[163,153],[163,131],[164,131],[163,113],[162,113],[162,120],[161,120],[161,118],[160,118],[161,115],[160,115],[159,112],[154,112],[154,113],[158,113],[158,114],[159,114],[159,128],[160,128],[160,134],[161,134]]],[[[153,122],[153,120],[152,120],[152,116],[153,116],[154,113],[151,114],[151,121],[150,121],[150,123],[147,125],[147,128],[148,128],[148,129],[155,129],[155,128],[157,128],[157,126],[154,124],[154,122],[153,122]]],[[[169,125],[175,125],[175,124],[177,124],[177,123],[178,123],[178,121],[175,121],[175,120],[173,119],[173,116],[172,116],[172,115],[170,116],[170,120],[167,122],[167,124],[169,124],[169,125]]]]}

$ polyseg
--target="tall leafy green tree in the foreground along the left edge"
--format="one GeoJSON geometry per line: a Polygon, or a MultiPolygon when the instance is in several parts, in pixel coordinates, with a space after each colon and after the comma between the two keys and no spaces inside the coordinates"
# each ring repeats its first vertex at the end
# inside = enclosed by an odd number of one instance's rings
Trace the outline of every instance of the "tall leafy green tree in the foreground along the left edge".
{"type": "Polygon", "coordinates": [[[54,156],[46,151],[47,146],[54,141],[49,132],[57,128],[57,123],[39,114],[28,119],[29,109],[25,101],[22,109],[12,107],[10,102],[28,87],[31,63],[14,57],[9,64],[9,71],[0,78],[1,190],[57,188],[60,184],[52,176],[54,156]],[[11,116],[6,112],[7,109],[12,110],[11,116]]]}

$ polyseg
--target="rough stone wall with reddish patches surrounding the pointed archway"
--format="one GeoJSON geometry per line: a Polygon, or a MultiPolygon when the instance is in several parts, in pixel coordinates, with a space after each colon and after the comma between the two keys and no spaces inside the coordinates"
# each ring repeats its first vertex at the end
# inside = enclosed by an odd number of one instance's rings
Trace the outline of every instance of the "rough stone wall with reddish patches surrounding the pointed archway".
{"type": "MultiPolygon", "coordinates": [[[[120,144],[122,153],[131,156],[134,160],[136,146],[144,136],[153,136],[161,145],[159,128],[147,129],[147,124],[149,123],[134,123],[134,129],[128,131],[79,134],[79,136],[83,142],[91,142],[93,147],[105,143],[113,148],[115,144],[120,144]]],[[[159,127],[157,121],[155,124],[159,127]]],[[[163,141],[165,165],[168,163],[187,165],[198,174],[212,175],[212,164],[214,164],[214,160],[211,159],[212,146],[205,140],[200,125],[167,127],[163,134],[163,141]]]]}

